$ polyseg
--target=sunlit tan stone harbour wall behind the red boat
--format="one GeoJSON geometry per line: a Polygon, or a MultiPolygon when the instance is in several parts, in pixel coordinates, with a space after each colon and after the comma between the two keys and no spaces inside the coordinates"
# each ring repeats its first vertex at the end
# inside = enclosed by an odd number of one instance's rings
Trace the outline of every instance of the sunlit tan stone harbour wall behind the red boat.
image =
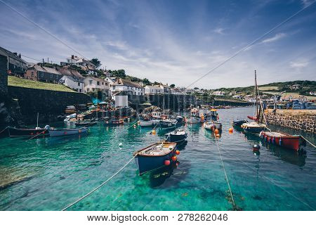
{"type": "Polygon", "coordinates": [[[316,110],[266,110],[265,117],[268,124],[316,133],[316,110]]]}

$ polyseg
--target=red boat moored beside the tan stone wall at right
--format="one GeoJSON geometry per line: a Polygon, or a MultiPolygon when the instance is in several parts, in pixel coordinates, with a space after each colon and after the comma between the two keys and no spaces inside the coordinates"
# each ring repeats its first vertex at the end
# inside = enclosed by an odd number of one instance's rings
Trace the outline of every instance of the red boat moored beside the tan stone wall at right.
{"type": "Polygon", "coordinates": [[[291,135],[280,131],[261,131],[261,139],[268,141],[276,146],[282,146],[292,150],[300,150],[301,136],[291,135]]]}

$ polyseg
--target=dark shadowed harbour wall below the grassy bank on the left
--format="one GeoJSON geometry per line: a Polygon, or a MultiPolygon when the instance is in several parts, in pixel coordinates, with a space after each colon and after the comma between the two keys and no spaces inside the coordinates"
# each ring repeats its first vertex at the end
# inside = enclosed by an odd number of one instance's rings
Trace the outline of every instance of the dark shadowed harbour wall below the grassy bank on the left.
{"type": "MultiPolygon", "coordinates": [[[[18,86],[8,86],[8,98],[12,99],[11,103],[6,105],[8,117],[2,120],[7,125],[36,124],[37,113],[39,113],[41,124],[55,122],[58,121],[60,115],[65,114],[67,105],[91,102],[91,97],[83,93],[28,89],[18,86]]],[[[6,124],[0,125],[0,127],[6,127],[6,124]]]]}

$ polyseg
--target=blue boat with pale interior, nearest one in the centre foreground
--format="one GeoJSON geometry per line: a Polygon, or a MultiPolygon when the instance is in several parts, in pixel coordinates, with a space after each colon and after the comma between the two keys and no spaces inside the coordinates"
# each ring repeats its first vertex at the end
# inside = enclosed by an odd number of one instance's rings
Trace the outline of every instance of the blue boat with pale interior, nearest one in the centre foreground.
{"type": "Polygon", "coordinates": [[[140,175],[171,164],[176,160],[176,143],[157,142],[135,153],[135,161],[140,175]]]}

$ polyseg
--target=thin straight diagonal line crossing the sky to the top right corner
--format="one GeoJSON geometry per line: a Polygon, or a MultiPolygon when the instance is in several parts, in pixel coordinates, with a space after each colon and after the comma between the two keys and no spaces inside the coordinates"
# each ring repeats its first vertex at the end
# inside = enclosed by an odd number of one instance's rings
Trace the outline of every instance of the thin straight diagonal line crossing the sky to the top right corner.
{"type": "MultiPolygon", "coordinates": [[[[0,0],[1,1],[1,0],[0,0]]],[[[252,41],[250,44],[247,44],[246,46],[244,46],[244,48],[240,49],[239,51],[237,51],[236,53],[234,53],[232,56],[228,57],[227,59],[225,59],[222,63],[216,65],[215,68],[209,70],[209,72],[206,72],[206,74],[202,75],[202,77],[199,77],[198,79],[196,79],[194,82],[192,82],[189,86],[187,86],[186,88],[189,88],[190,86],[192,86],[193,84],[195,84],[196,82],[198,82],[200,79],[206,77],[207,75],[209,75],[211,72],[213,72],[214,70],[220,68],[220,66],[224,65],[225,63],[227,63],[229,60],[231,60],[232,58],[235,58],[235,56],[238,56],[239,53],[242,53],[242,51],[248,49],[250,46],[254,45],[257,41],[259,41],[260,39],[262,39],[263,37],[267,36],[268,34],[272,33],[274,30],[276,30],[278,27],[281,27],[282,25],[284,25],[284,23],[287,23],[289,20],[291,20],[292,18],[294,18],[296,15],[298,15],[299,13],[301,13],[302,11],[304,11],[306,8],[309,8],[310,6],[312,6],[312,4],[314,4],[315,1],[313,1],[310,5],[305,6],[304,8],[302,8],[300,11],[297,11],[296,13],[294,13],[293,15],[291,15],[289,18],[287,18],[286,20],[283,20],[281,23],[279,23],[278,25],[276,25],[275,27],[273,27],[271,30],[269,30],[268,32],[265,32],[263,35],[261,35],[261,37],[258,37],[257,39],[255,39],[254,41],[252,41]]]]}

